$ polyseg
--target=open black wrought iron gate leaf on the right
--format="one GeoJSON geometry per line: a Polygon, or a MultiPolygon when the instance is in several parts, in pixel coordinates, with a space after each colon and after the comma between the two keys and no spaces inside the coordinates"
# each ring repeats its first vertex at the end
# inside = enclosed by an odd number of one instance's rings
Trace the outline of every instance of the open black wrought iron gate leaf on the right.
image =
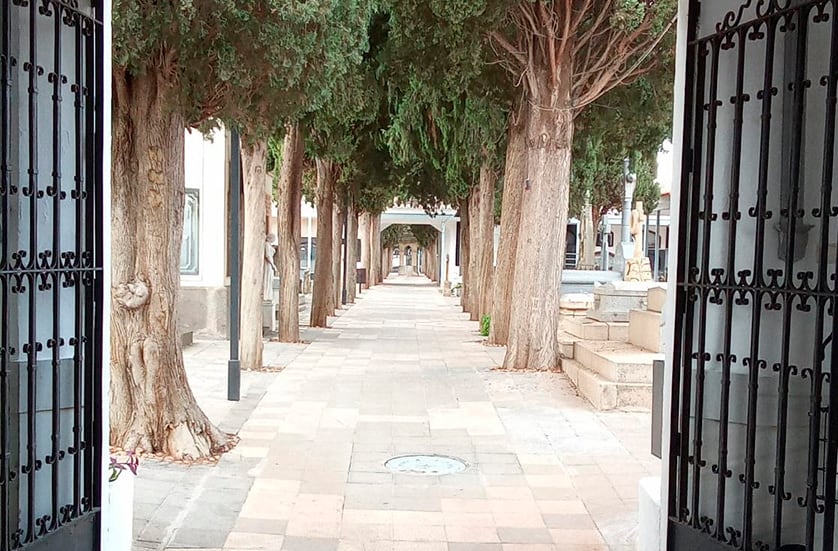
{"type": "Polygon", "coordinates": [[[830,551],[838,2],[741,2],[689,13],[669,548],[830,551]]]}

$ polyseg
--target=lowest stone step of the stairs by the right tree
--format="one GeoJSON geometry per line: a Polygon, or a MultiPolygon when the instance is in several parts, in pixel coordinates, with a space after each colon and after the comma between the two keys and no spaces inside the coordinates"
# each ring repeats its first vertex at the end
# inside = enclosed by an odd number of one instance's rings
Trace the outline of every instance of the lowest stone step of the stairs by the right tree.
{"type": "Polygon", "coordinates": [[[598,410],[652,409],[651,384],[608,381],[576,360],[563,360],[562,368],[579,393],[598,410]]]}

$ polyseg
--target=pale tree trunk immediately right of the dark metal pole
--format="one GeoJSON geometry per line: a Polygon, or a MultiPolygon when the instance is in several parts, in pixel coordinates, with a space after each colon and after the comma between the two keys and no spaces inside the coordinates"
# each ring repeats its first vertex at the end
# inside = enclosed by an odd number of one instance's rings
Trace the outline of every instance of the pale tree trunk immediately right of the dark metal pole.
{"type": "Polygon", "coordinates": [[[268,144],[242,137],[244,231],[241,277],[241,366],[262,368],[262,301],[265,281],[265,163],[268,144]]]}

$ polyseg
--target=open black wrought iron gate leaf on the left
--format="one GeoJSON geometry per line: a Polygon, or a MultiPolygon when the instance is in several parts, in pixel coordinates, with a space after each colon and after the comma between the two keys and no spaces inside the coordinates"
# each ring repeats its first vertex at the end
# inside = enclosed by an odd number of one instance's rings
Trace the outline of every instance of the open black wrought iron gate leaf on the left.
{"type": "Polygon", "coordinates": [[[99,548],[102,7],[0,6],[0,550],[99,548]]]}

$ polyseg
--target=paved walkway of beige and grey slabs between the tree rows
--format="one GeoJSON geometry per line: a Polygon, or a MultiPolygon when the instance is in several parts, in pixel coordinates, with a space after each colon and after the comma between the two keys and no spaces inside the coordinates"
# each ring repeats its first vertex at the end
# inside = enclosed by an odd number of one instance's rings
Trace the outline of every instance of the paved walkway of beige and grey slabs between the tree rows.
{"type": "Polygon", "coordinates": [[[226,343],[189,350],[199,400],[241,443],[216,466],[143,467],[136,549],[635,548],[637,482],[660,469],[647,413],[594,412],[561,374],[495,370],[503,350],[420,278],[388,280],[305,335],[269,343],[287,368],[245,374],[233,405],[226,343]],[[384,466],[405,454],[468,467],[384,466]]]}

